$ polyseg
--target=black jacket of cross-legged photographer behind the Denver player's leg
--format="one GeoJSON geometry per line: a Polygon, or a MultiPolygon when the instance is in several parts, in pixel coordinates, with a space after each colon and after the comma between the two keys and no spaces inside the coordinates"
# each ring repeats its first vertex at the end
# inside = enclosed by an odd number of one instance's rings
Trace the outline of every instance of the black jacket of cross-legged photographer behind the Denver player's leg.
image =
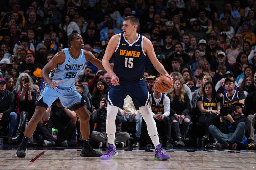
{"type": "MultiPolygon", "coordinates": [[[[106,120],[107,120],[107,110],[98,108],[96,112],[93,113],[91,120],[93,123],[97,123],[96,131],[98,132],[106,132],[106,120]]],[[[123,115],[118,110],[117,116],[116,116],[116,130],[120,130],[120,123],[123,122],[123,115]]]]}

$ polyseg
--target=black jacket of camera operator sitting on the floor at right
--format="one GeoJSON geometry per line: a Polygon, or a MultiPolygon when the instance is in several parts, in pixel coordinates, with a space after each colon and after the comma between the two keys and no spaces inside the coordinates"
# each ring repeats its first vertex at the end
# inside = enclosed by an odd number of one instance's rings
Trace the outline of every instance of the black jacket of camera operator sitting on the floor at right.
{"type": "MultiPolygon", "coordinates": [[[[234,118],[233,118],[234,119],[234,118]]],[[[222,133],[225,133],[225,134],[228,134],[228,133],[234,133],[235,130],[236,130],[236,127],[237,125],[240,123],[240,122],[244,122],[245,123],[245,132],[248,130],[248,127],[249,127],[249,120],[244,117],[244,116],[240,116],[236,119],[234,119],[235,122],[233,122],[232,124],[230,123],[229,120],[223,118],[223,122],[220,122],[220,131],[222,133]],[[229,129],[228,127],[232,125],[229,129]]]]}

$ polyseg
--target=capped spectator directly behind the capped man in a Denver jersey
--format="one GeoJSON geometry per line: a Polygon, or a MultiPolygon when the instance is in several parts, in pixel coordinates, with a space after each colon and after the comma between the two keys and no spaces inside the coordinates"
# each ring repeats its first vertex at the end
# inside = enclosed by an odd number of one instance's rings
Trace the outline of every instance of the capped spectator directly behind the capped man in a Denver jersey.
{"type": "MultiPolygon", "coordinates": [[[[242,91],[242,89],[239,88],[239,85],[237,84],[237,82],[235,81],[235,77],[232,71],[227,71],[225,74],[223,74],[223,78],[229,78],[233,81],[235,87],[235,90],[239,90],[242,91]]],[[[221,81],[221,80],[220,80],[221,81]]],[[[227,90],[225,89],[225,86],[220,86],[220,81],[217,82],[217,84],[215,85],[215,90],[217,91],[217,97],[222,97],[223,95],[225,95],[227,93],[227,90]]]]}

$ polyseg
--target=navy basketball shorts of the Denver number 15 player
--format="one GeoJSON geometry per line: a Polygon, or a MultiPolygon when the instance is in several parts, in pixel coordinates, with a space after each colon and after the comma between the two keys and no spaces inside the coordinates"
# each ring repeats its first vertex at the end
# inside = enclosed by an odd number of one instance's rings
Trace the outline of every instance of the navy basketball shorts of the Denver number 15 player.
{"type": "Polygon", "coordinates": [[[145,80],[120,81],[120,85],[110,85],[108,92],[109,105],[124,107],[124,99],[127,95],[132,98],[136,110],[140,106],[147,106],[149,102],[149,92],[145,80]]]}

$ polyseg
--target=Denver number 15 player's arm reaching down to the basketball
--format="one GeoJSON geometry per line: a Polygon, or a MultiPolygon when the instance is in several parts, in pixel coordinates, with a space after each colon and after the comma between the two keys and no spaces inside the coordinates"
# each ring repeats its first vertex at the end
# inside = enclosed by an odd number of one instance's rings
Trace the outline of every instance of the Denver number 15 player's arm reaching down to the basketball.
{"type": "Polygon", "coordinates": [[[164,66],[158,61],[158,59],[156,58],[156,54],[154,51],[154,47],[153,44],[150,40],[148,40],[148,38],[144,37],[143,38],[143,48],[146,52],[146,54],[148,55],[151,63],[153,64],[153,66],[156,68],[156,70],[169,77],[171,79],[171,81],[173,82],[171,76],[168,74],[168,72],[165,70],[164,66]]]}

